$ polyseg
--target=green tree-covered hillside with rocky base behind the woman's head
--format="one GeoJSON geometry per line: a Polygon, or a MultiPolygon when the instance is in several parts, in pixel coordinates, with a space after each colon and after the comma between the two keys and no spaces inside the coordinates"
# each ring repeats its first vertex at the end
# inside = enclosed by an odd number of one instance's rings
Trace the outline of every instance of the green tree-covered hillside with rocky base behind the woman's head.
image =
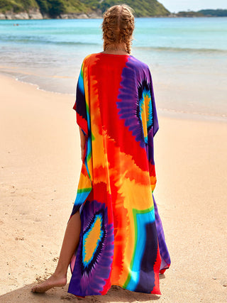
{"type": "Polygon", "coordinates": [[[110,6],[122,3],[131,6],[137,17],[170,15],[170,11],[156,0],[0,0],[0,18],[12,18],[13,15],[30,18],[34,16],[31,13],[34,11],[40,18],[67,18],[70,14],[72,18],[77,17],[77,14],[101,17],[110,6]]]}

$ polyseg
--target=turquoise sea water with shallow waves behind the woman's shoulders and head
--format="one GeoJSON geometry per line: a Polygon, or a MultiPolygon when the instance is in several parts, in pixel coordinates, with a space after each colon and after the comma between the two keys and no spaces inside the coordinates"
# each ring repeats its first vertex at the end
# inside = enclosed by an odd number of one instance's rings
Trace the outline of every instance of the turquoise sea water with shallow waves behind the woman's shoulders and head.
{"type": "MultiPolygon", "coordinates": [[[[102,43],[101,19],[0,21],[0,72],[74,94],[102,43]]],[[[227,18],[137,18],[132,55],[150,67],[157,109],[227,119],[227,18]]]]}

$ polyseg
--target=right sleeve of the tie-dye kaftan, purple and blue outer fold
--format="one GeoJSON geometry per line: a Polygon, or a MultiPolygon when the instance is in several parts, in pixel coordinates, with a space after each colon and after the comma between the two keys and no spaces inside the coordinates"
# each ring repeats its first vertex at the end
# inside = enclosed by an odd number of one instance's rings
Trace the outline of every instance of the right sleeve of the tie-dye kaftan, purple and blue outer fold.
{"type": "Polygon", "coordinates": [[[150,86],[150,102],[148,104],[148,113],[149,113],[149,120],[148,120],[148,132],[153,126],[153,136],[157,133],[159,129],[158,119],[157,119],[157,110],[155,105],[155,94],[153,88],[153,80],[150,74],[150,70],[148,69],[149,74],[149,86],[150,86]]]}

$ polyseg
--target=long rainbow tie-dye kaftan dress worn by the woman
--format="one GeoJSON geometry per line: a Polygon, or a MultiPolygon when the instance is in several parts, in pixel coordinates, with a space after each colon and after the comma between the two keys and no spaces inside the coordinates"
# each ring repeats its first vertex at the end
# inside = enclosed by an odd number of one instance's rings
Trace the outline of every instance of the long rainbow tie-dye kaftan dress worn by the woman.
{"type": "Polygon", "coordinates": [[[71,214],[80,211],[82,229],[68,292],[106,294],[118,285],[160,294],[170,255],[153,197],[159,126],[148,65],[132,55],[88,55],[73,108],[86,146],[71,214]]]}

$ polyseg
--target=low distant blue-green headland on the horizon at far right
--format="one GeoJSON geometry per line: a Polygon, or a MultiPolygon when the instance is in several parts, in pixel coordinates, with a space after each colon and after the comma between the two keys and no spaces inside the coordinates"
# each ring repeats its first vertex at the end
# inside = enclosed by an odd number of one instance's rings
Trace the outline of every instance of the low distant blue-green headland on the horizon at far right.
{"type": "Polygon", "coordinates": [[[200,11],[179,11],[177,17],[227,17],[227,9],[201,9],[200,11]]]}

